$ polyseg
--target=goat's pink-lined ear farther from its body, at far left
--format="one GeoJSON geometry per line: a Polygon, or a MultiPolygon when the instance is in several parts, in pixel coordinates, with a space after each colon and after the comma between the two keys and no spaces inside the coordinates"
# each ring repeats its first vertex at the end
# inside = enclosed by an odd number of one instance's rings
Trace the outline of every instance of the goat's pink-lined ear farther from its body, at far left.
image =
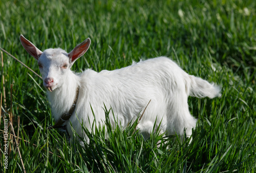
{"type": "Polygon", "coordinates": [[[22,43],[22,46],[24,49],[33,56],[36,60],[39,59],[39,57],[42,54],[42,51],[40,51],[38,48],[35,47],[35,45],[32,44],[29,40],[27,40],[23,35],[19,36],[19,40],[22,43]]]}

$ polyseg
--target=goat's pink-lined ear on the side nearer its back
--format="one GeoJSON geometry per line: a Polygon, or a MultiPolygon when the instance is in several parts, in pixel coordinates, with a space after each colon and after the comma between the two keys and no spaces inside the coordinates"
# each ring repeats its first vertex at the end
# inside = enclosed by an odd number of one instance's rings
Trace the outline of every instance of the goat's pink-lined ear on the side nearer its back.
{"type": "Polygon", "coordinates": [[[69,54],[69,59],[71,62],[74,62],[76,59],[81,57],[86,51],[89,49],[91,44],[91,39],[87,38],[83,42],[81,42],[79,45],[77,45],[69,54]]]}

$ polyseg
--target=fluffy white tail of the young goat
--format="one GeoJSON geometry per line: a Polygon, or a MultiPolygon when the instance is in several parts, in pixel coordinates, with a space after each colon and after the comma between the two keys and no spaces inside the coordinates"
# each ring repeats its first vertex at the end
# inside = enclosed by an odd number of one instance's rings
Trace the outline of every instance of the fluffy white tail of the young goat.
{"type": "Polygon", "coordinates": [[[203,98],[203,97],[221,97],[221,87],[215,83],[209,83],[200,77],[189,75],[190,82],[186,82],[186,89],[189,89],[189,96],[203,98]]]}

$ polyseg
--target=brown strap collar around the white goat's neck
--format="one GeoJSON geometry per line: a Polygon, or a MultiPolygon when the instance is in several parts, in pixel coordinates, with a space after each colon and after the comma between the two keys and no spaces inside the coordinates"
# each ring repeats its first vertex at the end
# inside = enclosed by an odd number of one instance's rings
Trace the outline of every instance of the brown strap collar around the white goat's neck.
{"type": "Polygon", "coordinates": [[[61,115],[61,117],[59,118],[59,120],[54,125],[49,126],[48,128],[50,128],[50,129],[51,128],[59,128],[63,123],[67,122],[70,119],[71,115],[75,111],[78,95],[79,95],[79,87],[77,87],[77,89],[76,89],[76,97],[75,97],[74,103],[71,106],[69,112],[63,113],[61,115]]]}

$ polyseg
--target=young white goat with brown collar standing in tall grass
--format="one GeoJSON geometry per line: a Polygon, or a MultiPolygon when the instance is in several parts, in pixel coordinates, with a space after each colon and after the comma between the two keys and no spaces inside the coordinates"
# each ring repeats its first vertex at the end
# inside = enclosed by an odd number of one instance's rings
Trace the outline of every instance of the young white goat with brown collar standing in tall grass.
{"type": "Polygon", "coordinates": [[[91,129],[94,120],[91,106],[97,125],[105,121],[105,104],[108,109],[112,108],[115,115],[110,116],[111,125],[114,126],[117,119],[125,127],[141,115],[150,100],[137,126],[144,136],[150,135],[155,121],[157,127],[160,125],[161,133],[166,132],[166,135],[184,135],[184,130],[187,135],[191,135],[196,119],[189,113],[188,96],[221,96],[220,87],[188,75],[166,57],[140,61],[113,71],[97,73],[87,69],[75,74],[70,68],[89,49],[90,38],[70,53],[60,48],[41,52],[23,35],[20,35],[20,42],[38,62],[44,86],[49,89],[47,94],[57,124],[67,125],[71,136],[69,121],[76,133],[87,139],[82,133],[81,122],[91,129]],[[71,109],[74,103],[76,105],[71,109]],[[69,121],[62,121],[65,118],[63,115],[68,112],[71,116],[66,120],[69,121]]]}

